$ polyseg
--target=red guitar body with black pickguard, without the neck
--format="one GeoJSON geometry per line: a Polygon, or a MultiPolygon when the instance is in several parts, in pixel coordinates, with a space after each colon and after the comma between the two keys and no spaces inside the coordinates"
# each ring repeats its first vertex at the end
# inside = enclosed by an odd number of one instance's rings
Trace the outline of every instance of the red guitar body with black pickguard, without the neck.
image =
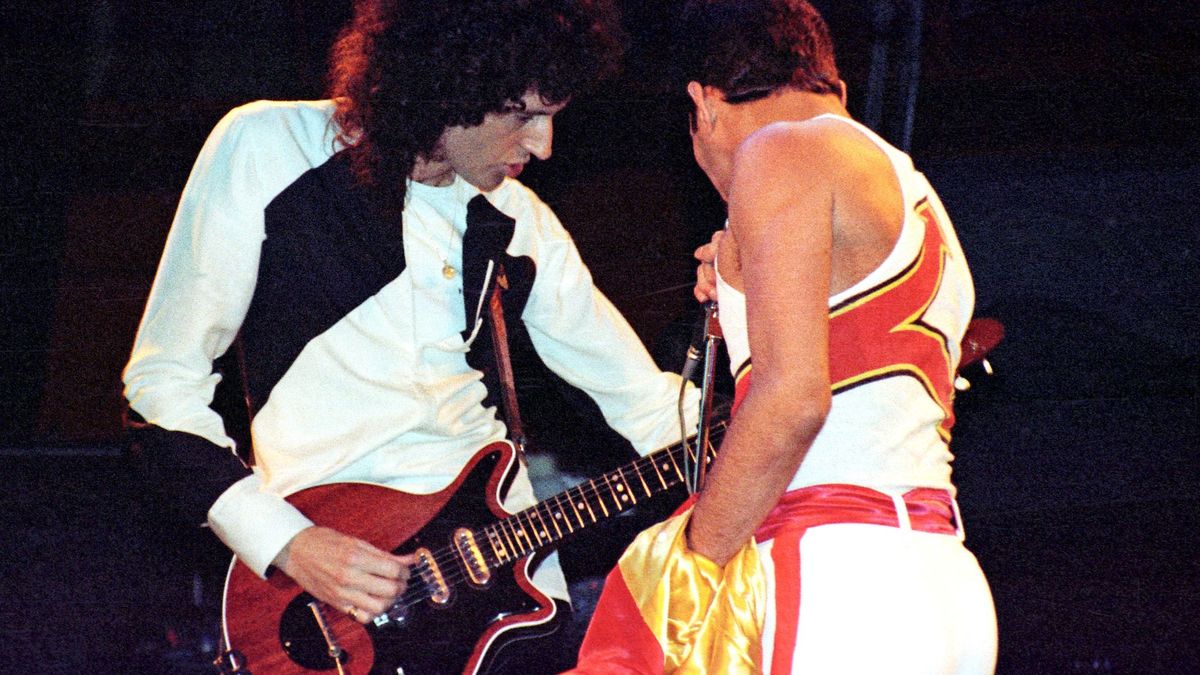
{"type": "MultiPolygon", "coordinates": [[[[440,492],[412,495],[383,485],[335,483],[296,492],[288,502],[317,525],[383,550],[437,550],[461,527],[510,515],[500,495],[515,472],[512,447],[497,442],[440,492]]],[[[256,674],[337,673],[325,632],[341,650],[348,674],[482,673],[505,644],[558,626],[554,601],[529,580],[532,560],[527,555],[496,569],[482,585],[458,583],[449,597],[425,599],[400,617],[362,626],[340,608],[316,603],[282,572],[264,581],[234,558],[224,593],[226,643],[238,665],[256,674]],[[310,603],[320,610],[325,632],[310,603]]],[[[442,562],[448,575],[463,575],[455,560],[442,562]]]]}

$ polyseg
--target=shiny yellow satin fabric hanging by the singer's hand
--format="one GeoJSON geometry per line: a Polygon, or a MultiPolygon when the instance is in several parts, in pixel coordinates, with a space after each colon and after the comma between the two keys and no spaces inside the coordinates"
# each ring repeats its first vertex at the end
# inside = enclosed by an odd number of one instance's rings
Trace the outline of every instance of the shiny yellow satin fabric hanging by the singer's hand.
{"type": "Polygon", "coordinates": [[[754,540],[722,568],[688,550],[690,516],[647,528],[618,562],[662,646],[664,673],[761,673],[767,581],[754,540]]]}

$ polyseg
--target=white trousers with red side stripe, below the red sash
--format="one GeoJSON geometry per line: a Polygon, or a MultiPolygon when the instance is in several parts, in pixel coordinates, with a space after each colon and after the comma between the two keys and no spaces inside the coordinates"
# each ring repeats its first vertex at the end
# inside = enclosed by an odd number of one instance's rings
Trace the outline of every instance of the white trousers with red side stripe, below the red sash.
{"type": "Polygon", "coordinates": [[[995,671],[991,591],[959,537],[835,524],[810,527],[798,542],[762,542],[758,551],[773,598],[763,631],[767,673],[995,671]],[[798,616],[787,609],[797,597],[798,616]],[[788,643],[791,658],[776,658],[788,643]]]}

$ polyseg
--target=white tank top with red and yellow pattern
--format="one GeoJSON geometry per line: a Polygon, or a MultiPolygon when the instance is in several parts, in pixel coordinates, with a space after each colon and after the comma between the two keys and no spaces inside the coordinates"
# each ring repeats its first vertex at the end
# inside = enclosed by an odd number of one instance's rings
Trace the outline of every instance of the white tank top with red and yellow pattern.
{"type": "MultiPolygon", "coordinates": [[[[971,273],[949,216],[912,160],[854,120],[820,118],[853,126],[888,156],[906,215],[887,258],[829,298],[833,404],[790,489],[852,483],[894,494],[953,492],[953,381],[974,305],[971,273]]],[[[745,297],[719,265],[716,287],[740,404],[752,380],[745,297]]]]}

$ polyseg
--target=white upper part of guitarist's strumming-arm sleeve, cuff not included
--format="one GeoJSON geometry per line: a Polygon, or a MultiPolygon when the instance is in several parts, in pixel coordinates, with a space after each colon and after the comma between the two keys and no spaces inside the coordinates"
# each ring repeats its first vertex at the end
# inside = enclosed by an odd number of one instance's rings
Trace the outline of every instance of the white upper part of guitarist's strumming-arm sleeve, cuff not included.
{"type": "Polygon", "coordinates": [[[254,292],[263,240],[253,160],[227,115],[209,136],[184,187],[125,369],[125,395],[146,422],[233,448],[209,405],[254,292]]]}

